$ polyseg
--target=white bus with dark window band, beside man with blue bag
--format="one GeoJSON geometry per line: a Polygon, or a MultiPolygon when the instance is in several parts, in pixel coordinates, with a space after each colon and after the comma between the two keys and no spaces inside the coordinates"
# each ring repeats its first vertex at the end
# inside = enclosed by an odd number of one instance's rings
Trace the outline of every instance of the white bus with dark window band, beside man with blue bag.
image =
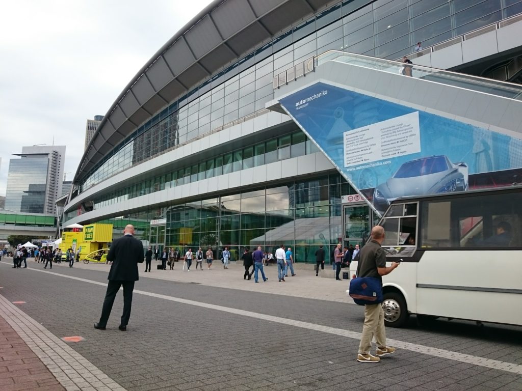
{"type": "MultiPolygon", "coordinates": [[[[385,323],[446,317],[522,325],[522,187],[398,199],[379,225],[385,323]]],[[[353,262],[351,270],[357,268],[353,262]]]]}

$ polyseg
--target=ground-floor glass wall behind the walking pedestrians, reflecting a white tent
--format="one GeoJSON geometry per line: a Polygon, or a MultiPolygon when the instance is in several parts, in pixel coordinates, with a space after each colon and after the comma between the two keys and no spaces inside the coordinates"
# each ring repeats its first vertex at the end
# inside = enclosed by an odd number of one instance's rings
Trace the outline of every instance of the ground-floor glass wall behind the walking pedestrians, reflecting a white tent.
{"type": "Polygon", "coordinates": [[[198,198],[127,216],[105,219],[115,230],[134,224],[137,238],[155,242],[161,227],[151,220],[165,218],[164,244],[185,251],[212,247],[215,257],[224,246],[236,260],[240,249],[262,246],[275,252],[279,245],[293,248],[297,262],[315,262],[319,245],[325,250],[342,242],[341,194],[353,190],[332,174],[273,187],[256,187],[216,198],[198,198]],[[152,240],[151,240],[152,239],[152,240]]]}

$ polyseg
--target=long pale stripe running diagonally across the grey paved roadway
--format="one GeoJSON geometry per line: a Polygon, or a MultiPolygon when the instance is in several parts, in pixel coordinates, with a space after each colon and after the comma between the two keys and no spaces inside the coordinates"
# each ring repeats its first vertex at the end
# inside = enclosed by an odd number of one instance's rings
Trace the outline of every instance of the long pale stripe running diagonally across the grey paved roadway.
{"type": "MultiPolygon", "coordinates": [[[[48,272],[48,271],[33,269],[33,268],[30,268],[29,270],[35,271],[35,272],[40,272],[40,273],[53,274],[53,275],[56,275],[59,277],[70,278],[70,279],[78,280],[78,281],[89,283],[89,284],[107,286],[107,284],[99,283],[97,281],[93,281],[93,280],[86,279],[86,278],[68,276],[68,275],[64,275],[64,274],[48,272]]],[[[155,297],[158,299],[174,301],[177,303],[188,304],[190,306],[202,307],[202,308],[207,308],[210,310],[216,310],[216,311],[221,311],[221,312],[228,312],[228,313],[235,314],[235,315],[253,317],[255,319],[262,319],[262,320],[269,321],[269,322],[287,324],[287,325],[294,326],[294,327],[306,328],[309,330],[319,331],[319,332],[333,334],[333,335],[337,335],[337,336],[343,336],[343,337],[352,338],[352,339],[361,339],[361,333],[348,331],[348,330],[345,330],[342,328],[328,327],[328,326],[323,326],[323,325],[319,325],[319,324],[315,324],[315,323],[308,323],[308,322],[301,322],[301,321],[296,321],[296,320],[292,320],[292,319],[286,319],[284,317],[279,317],[279,316],[265,315],[265,314],[259,314],[256,312],[251,312],[251,311],[244,311],[244,310],[239,310],[239,309],[235,309],[235,308],[217,306],[216,304],[202,303],[202,302],[194,301],[194,300],[187,300],[187,299],[182,299],[182,298],[177,298],[177,297],[172,297],[172,296],[167,296],[167,295],[160,295],[160,294],[155,294],[153,292],[146,292],[146,291],[138,290],[138,289],[135,289],[134,293],[139,294],[139,295],[149,296],[149,297],[155,297]]],[[[496,369],[496,370],[505,371],[505,372],[522,374],[522,365],[514,364],[511,362],[492,360],[492,359],[487,359],[487,358],[479,357],[479,356],[466,355],[464,353],[454,352],[454,351],[445,350],[445,349],[433,348],[430,346],[412,344],[409,342],[399,341],[397,339],[387,338],[387,343],[390,346],[394,346],[395,348],[410,350],[410,351],[414,351],[417,353],[421,353],[423,355],[442,357],[442,358],[446,358],[448,360],[454,360],[454,361],[459,361],[459,362],[465,362],[468,364],[484,366],[485,368],[491,368],[491,369],[496,369]]]]}

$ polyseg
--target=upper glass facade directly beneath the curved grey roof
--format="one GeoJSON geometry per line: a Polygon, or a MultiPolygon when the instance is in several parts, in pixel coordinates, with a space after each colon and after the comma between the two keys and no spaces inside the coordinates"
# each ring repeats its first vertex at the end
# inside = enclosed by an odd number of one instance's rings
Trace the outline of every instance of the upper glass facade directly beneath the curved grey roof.
{"type": "Polygon", "coordinates": [[[522,0],[347,0],[302,22],[150,118],[82,181],[80,191],[134,164],[250,115],[272,78],[328,50],[399,58],[522,13],[522,0]]]}

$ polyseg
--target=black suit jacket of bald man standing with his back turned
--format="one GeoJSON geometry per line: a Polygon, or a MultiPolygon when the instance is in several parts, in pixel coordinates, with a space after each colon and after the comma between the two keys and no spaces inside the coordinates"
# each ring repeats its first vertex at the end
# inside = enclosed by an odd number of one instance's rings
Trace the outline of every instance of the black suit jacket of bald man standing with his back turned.
{"type": "Polygon", "coordinates": [[[107,254],[112,262],[107,279],[111,281],[137,281],[138,263],[143,263],[143,245],[132,235],[125,235],[112,242],[107,254]]]}

